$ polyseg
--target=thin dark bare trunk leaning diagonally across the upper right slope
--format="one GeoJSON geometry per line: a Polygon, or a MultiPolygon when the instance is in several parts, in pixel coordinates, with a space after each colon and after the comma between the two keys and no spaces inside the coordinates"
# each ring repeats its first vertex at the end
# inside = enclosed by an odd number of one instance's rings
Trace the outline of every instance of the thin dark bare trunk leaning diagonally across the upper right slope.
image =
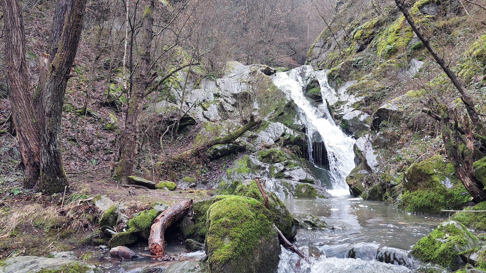
{"type": "Polygon", "coordinates": [[[412,27],[412,30],[415,32],[415,34],[417,34],[417,37],[422,41],[424,46],[427,48],[427,50],[430,52],[430,54],[434,57],[435,62],[444,70],[444,72],[449,77],[449,79],[451,79],[452,83],[457,88],[459,93],[461,93],[461,100],[466,105],[466,109],[468,111],[469,118],[471,119],[472,124],[478,130],[477,131],[478,133],[483,134],[484,125],[483,125],[483,123],[480,119],[479,114],[476,112],[474,99],[472,98],[468,89],[466,89],[466,87],[461,83],[461,81],[459,80],[457,75],[451,70],[451,68],[449,68],[449,64],[447,64],[446,61],[439,55],[439,53],[435,50],[434,46],[429,42],[429,39],[427,39],[424,36],[422,30],[414,22],[414,19],[412,18],[412,16],[408,12],[403,1],[402,0],[395,0],[395,3],[397,4],[400,11],[403,13],[403,16],[405,17],[405,19],[408,21],[408,23],[412,27]]]}

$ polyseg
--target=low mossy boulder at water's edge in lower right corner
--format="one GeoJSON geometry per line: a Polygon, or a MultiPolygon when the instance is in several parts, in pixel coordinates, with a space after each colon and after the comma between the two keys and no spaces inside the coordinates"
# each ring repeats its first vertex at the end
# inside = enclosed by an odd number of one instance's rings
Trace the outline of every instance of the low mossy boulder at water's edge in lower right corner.
{"type": "Polygon", "coordinates": [[[441,223],[426,237],[419,239],[412,249],[412,255],[421,261],[456,270],[467,261],[461,257],[463,252],[478,246],[478,238],[464,225],[447,221],[441,223]]]}

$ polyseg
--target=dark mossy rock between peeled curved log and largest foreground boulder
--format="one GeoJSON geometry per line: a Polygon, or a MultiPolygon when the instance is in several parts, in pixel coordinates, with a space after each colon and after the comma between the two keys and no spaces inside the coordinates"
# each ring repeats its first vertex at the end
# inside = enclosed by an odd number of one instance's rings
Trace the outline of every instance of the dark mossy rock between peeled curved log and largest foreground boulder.
{"type": "Polygon", "coordinates": [[[184,217],[180,224],[184,239],[193,239],[204,242],[208,232],[207,220],[209,206],[214,202],[214,197],[203,201],[194,202],[192,215],[184,217]]]}

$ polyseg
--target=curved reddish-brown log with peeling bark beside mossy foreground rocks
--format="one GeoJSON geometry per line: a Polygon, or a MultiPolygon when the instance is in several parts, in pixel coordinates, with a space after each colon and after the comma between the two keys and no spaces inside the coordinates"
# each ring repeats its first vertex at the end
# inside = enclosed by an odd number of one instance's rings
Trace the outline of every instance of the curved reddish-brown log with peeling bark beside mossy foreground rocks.
{"type": "Polygon", "coordinates": [[[188,201],[181,201],[164,210],[156,217],[152,227],[150,228],[149,251],[151,254],[155,256],[164,255],[165,230],[188,214],[191,207],[192,199],[188,201]]]}

